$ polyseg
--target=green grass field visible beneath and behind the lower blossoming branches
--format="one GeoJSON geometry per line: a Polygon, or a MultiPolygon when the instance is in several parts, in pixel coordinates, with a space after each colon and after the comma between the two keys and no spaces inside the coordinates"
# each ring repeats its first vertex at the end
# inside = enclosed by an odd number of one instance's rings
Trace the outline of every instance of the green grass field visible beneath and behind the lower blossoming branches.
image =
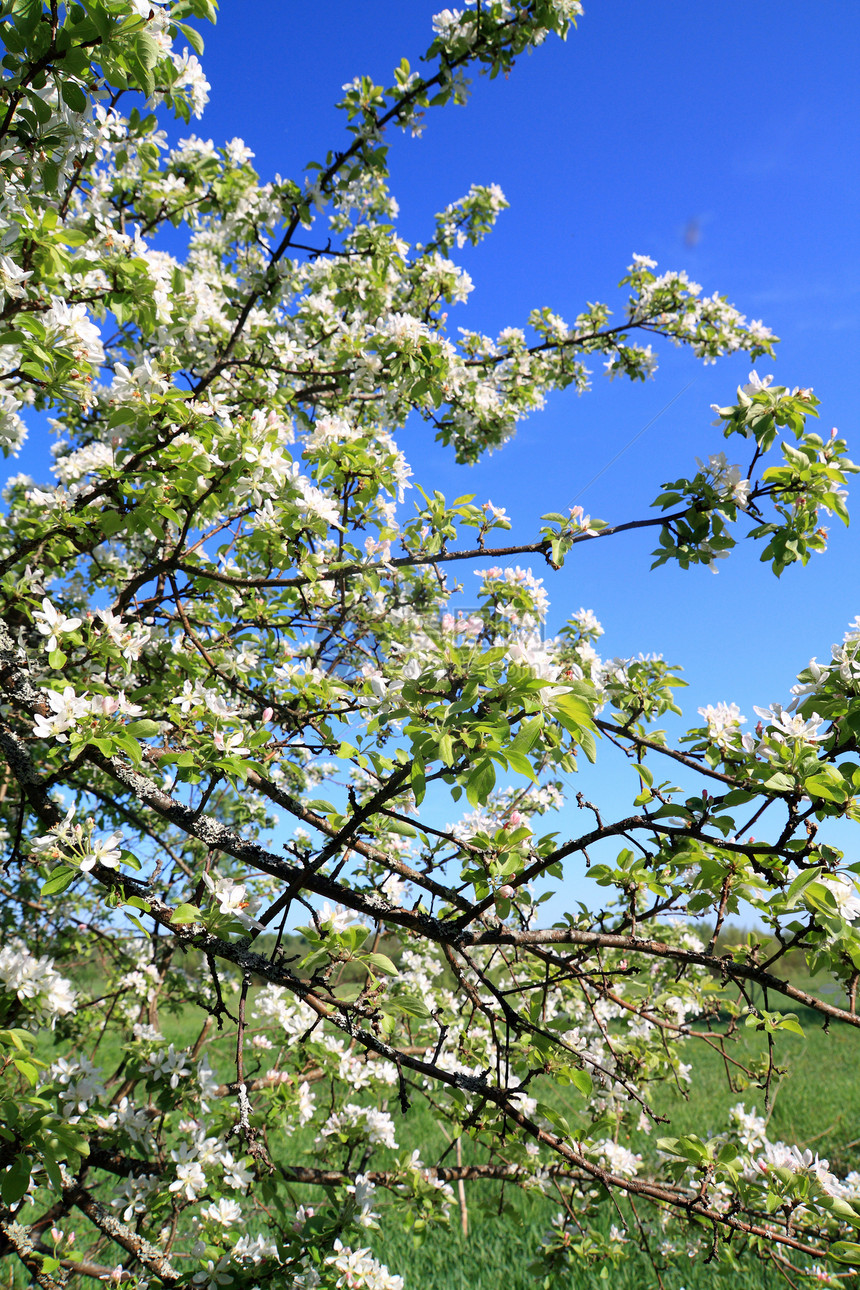
{"type": "MultiPolygon", "coordinates": [[[[779,1064],[785,1073],[777,1076],[771,1086],[768,1136],[811,1147],[829,1158],[830,1166],[839,1174],[860,1169],[860,1036],[839,1024],[825,1033],[814,1013],[799,1010],[798,1017],[805,1036],[787,1032],[780,1036],[779,1064]]],[[[197,1037],[201,1020],[197,1010],[188,1009],[179,1015],[162,1014],[160,1024],[169,1040],[178,1046],[188,1046],[197,1037]]],[[[224,1078],[232,1075],[233,1042],[235,1035],[224,1033],[210,1047],[210,1060],[224,1078]]],[[[739,1032],[734,1050],[739,1058],[761,1049],[759,1036],[744,1029],[739,1032]]],[[[762,1090],[748,1087],[738,1093],[728,1087],[717,1053],[695,1042],[689,1044],[689,1050],[686,1060],[694,1063],[691,1096],[685,1099],[670,1087],[652,1094],[655,1109],[667,1116],[669,1124],[655,1130],[650,1138],[642,1134],[632,1143],[646,1157],[658,1136],[677,1136],[689,1131],[707,1136],[721,1131],[726,1127],[730,1107],[738,1102],[754,1107],[759,1113],[766,1112],[762,1090]]],[[[110,1036],[104,1037],[94,1055],[106,1071],[113,1069],[120,1058],[119,1050],[112,1050],[110,1036]]],[[[48,1051],[43,1057],[50,1059],[48,1051]]],[[[563,1109],[560,1091],[553,1100],[563,1109]]],[[[404,1117],[396,1098],[389,1109],[396,1121],[400,1152],[418,1148],[427,1164],[437,1160],[445,1149],[445,1139],[429,1111],[416,1099],[404,1117]]],[[[282,1148],[285,1164],[313,1164],[311,1139],[312,1135],[306,1134],[290,1139],[288,1147],[276,1135],[273,1147],[282,1148]]],[[[468,1152],[467,1143],[465,1160],[471,1158],[468,1152]]],[[[370,1167],[384,1167],[386,1155],[374,1158],[370,1167]]],[[[297,1195],[312,1202],[311,1189],[297,1188],[297,1195]]],[[[392,1271],[404,1276],[406,1290],[533,1290],[540,1286],[542,1280],[535,1278],[529,1265],[561,1205],[511,1186],[500,1196],[498,1184],[480,1182],[465,1184],[465,1200],[468,1237],[463,1236],[460,1215],[455,1211],[449,1228],[431,1228],[418,1245],[409,1233],[386,1223],[384,1193],[380,1193],[382,1229],[369,1231],[365,1244],[392,1271]]],[[[618,1222],[618,1215],[607,1206],[607,1227],[610,1222],[618,1222]]],[[[660,1275],[665,1290],[767,1290],[785,1285],[772,1267],[754,1259],[736,1265],[731,1254],[722,1249],[719,1262],[708,1265],[686,1256],[674,1264],[660,1262],[660,1275]]],[[[637,1254],[621,1268],[581,1267],[553,1282],[553,1290],[605,1290],[607,1286],[612,1290],[650,1290],[658,1286],[658,1278],[650,1262],[637,1254]]]]}

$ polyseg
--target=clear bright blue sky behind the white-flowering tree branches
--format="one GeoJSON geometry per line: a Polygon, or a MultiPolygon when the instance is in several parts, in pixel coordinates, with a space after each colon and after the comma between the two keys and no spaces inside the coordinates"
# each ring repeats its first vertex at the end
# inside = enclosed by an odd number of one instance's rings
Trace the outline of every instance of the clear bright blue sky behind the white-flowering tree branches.
{"type": "MultiPolygon", "coordinates": [[[[404,54],[419,66],[432,12],[423,0],[223,0],[204,31],[211,101],[193,129],[215,143],[244,138],[264,179],[300,181],[308,161],[343,144],[333,107],[342,85],[357,74],[387,84],[404,54]]],[[[428,114],[422,138],[392,137],[401,232],[424,239],[435,212],[471,183],[502,186],[511,209],[481,248],[459,253],[476,290],[450,317],[491,333],[536,306],[569,320],[587,301],[620,308],[615,284],[633,252],[686,268],[783,337],[759,374],[812,386],[824,433],[838,426],[860,459],[859,54],[855,0],[588,0],[566,44],[548,40],[507,80],[480,79],[467,107],[428,114]]],[[[620,522],[646,516],[664,480],[694,472],[695,455],[725,446],[709,405],[732,401],[749,366],[704,368],[661,348],[647,384],[610,384],[598,370],[589,395],[553,397],[473,468],[455,466],[420,424],[401,441],[424,488],[491,498],[514,519],[514,541],[533,541],[540,513],[575,498],[620,522]]],[[[45,473],[37,448],[18,468],[45,473]]],[[[830,531],[828,555],[779,582],[750,543],[717,577],[649,573],[655,534],[583,544],[561,573],[545,570],[551,628],[591,608],[603,653],[683,663],[691,722],[719,699],[754,721],[752,704],[785,702],[794,673],[826,657],[860,613],[860,519],[830,531]]],[[[463,580],[468,600],[467,569],[463,580]]],[[[611,777],[597,787],[619,809],[629,802],[611,777]]]]}

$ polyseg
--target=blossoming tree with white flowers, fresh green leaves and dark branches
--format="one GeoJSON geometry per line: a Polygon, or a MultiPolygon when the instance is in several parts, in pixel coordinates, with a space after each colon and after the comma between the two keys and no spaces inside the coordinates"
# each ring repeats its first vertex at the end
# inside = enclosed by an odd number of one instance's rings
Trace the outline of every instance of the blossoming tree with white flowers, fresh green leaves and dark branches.
{"type": "Polygon", "coordinates": [[[708,704],[678,748],[679,670],[598,653],[592,609],[556,630],[549,593],[584,543],[650,525],[658,562],[713,566],[736,525],[777,573],[805,562],[820,511],[847,520],[847,445],[753,372],[717,412],[754,468],[705,448],[658,519],[574,504],[514,543],[523,516],[485,490],[420,488],[422,424],[474,463],[592,366],[638,381],[665,343],[774,338],[646,255],[614,319],[458,328],[502,190],[402,235],[391,128],[566,36],[578,0],[437,13],[418,71],[349,81],[346,137],[266,181],[241,139],[187,130],[214,10],[4,8],[0,446],[39,415],[57,436],[0,520],[4,1250],[45,1285],[401,1290],[369,1233],[464,1223],[480,1186],[561,1193],[542,1282],[634,1244],[695,1254],[739,1214],[812,1276],[859,1222],[851,1174],[743,1108],[647,1134],[665,1086],[695,1091],[696,1045],[736,1069],[739,1024],[768,1055],[797,1032],[780,997],[857,1024],[859,867],[821,826],[860,817],[860,620],[789,707],[752,730],[708,704]],[[598,756],[632,808],[567,802],[598,756]]]}

